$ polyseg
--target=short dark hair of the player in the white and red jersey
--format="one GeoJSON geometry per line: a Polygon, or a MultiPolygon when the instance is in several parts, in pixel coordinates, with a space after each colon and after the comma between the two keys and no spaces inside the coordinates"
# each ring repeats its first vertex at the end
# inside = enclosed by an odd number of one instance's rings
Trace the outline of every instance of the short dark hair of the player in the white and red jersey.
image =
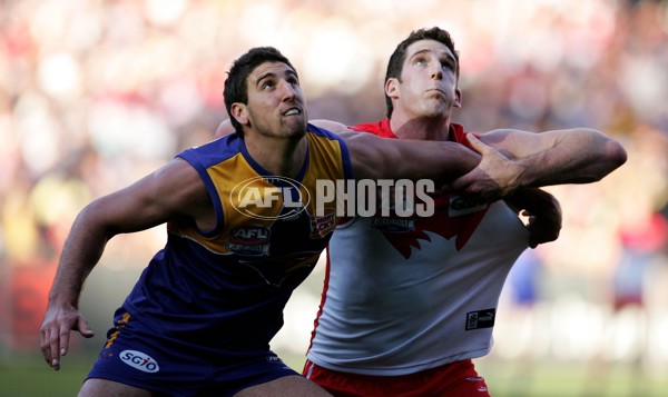
{"type": "MultiPolygon", "coordinates": [[[[406,49],[409,46],[420,40],[435,40],[448,47],[456,60],[455,76],[459,77],[459,52],[454,49],[454,41],[452,40],[452,37],[450,37],[450,33],[446,30],[443,30],[439,27],[433,27],[431,29],[412,31],[407,38],[396,46],[394,52],[392,52],[392,56],[390,57],[390,61],[387,61],[387,71],[385,72],[384,82],[387,82],[387,80],[391,78],[396,78],[399,81],[401,81],[403,63],[406,60],[406,49]]],[[[387,97],[387,95],[385,95],[385,107],[387,109],[387,117],[392,117],[394,106],[392,105],[392,99],[387,97]]]]}

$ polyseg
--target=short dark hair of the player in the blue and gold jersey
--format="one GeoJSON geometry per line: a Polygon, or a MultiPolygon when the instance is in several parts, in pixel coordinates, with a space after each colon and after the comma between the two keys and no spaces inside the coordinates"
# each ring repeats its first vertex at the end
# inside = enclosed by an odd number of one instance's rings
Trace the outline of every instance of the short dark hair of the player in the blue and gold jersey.
{"type": "Polygon", "coordinates": [[[246,79],[255,68],[265,62],[282,62],[295,70],[289,60],[274,47],[255,47],[237,58],[227,72],[223,98],[225,99],[225,109],[227,109],[227,115],[229,115],[229,121],[239,135],[243,135],[244,131],[242,125],[232,116],[232,103],[248,103],[246,79]]]}

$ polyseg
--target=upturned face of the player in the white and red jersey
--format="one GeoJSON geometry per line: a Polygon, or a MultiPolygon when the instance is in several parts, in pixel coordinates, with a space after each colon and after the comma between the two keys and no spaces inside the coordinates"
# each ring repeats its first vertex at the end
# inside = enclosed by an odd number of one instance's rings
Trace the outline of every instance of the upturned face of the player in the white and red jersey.
{"type": "Polygon", "coordinates": [[[386,89],[395,98],[394,111],[412,117],[449,116],[453,107],[460,107],[456,89],[456,60],[448,47],[435,40],[421,40],[406,49],[401,82],[394,81],[386,89]]]}

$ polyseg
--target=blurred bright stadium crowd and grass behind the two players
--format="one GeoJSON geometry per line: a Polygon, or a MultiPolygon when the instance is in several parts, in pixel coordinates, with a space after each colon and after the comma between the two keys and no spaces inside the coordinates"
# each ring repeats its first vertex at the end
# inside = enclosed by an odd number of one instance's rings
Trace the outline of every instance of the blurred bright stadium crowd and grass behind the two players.
{"type": "MultiPolygon", "coordinates": [[[[668,1],[0,1],[0,395],[72,395],[114,308],[165,240],[119,236],[81,309],[63,369],[38,354],[59,250],[92,198],[207,141],[225,119],[230,62],[275,46],[297,67],[312,119],[384,116],[383,76],[411,30],[461,52],[470,130],[588,126],[629,161],[602,182],[549,188],[562,236],[522,257],[504,289],[497,396],[668,395],[668,1]],[[20,390],[20,391],[19,391],[20,390]]],[[[301,368],[323,266],[273,347],[301,368]]]]}

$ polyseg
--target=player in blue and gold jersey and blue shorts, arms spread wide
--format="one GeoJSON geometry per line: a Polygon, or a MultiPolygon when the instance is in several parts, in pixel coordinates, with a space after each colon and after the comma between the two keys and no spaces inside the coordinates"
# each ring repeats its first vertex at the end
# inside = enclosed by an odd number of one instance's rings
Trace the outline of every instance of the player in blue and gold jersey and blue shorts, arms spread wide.
{"type": "MultiPolygon", "coordinates": [[[[336,200],[318,201],[318,183],[445,183],[481,162],[459,143],[336,136],[308,125],[297,72],[273,48],[233,63],[225,105],[237,133],[94,200],[72,226],[41,327],[55,369],[71,330],[94,336],[78,305],[107,241],[161,224],[168,236],[116,311],[80,396],[327,395],[269,349],[287,299],[342,216],[336,200]]],[[[498,180],[499,191],[518,187],[515,176],[529,185],[540,177],[472,142],[511,176],[498,180]]]]}

